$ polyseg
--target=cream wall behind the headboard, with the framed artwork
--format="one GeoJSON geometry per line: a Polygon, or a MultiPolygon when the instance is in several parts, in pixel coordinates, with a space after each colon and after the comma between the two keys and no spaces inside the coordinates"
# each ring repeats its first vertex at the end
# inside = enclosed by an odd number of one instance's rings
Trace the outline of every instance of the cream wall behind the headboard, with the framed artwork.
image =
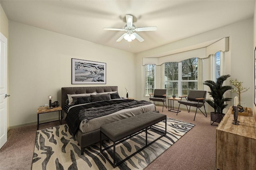
{"type": "MultiPolygon", "coordinates": [[[[42,30],[18,22],[9,22],[9,126],[36,123],[37,108],[61,101],[61,87],[118,86],[120,96],[135,96],[134,54],[42,30]],[[72,85],[71,58],[106,63],[106,84],[72,85]]],[[[58,113],[42,114],[40,120],[58,113]]]]}

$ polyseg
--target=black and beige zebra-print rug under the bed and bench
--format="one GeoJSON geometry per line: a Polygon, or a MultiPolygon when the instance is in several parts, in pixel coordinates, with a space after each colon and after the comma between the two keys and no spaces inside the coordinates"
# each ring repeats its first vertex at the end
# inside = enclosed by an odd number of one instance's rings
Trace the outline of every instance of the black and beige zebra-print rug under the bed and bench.
{"type": "MultiPolygon", "coordinates": [[[[160,122],[154,127],[164,130],[165,123],[160,122]]],[[[32,170],[142,170],[192,127],[194,125],[191,123],[167,118],[167,134],[165,136],[116,168],[113,168],[100,154],[99,142],[86,148],[84,155],[81,155],[80,146],[68,132],[67,125],[37,130],[32,170]]],[[[158,135],[157,131],[148,130],[148,141],[154,140],[158,135]]],[[[104,142],[106,145],[111,144],[109,140],[104,142]]],[[[142,132],[116,146],[116,156],[124,159],[144,145],[145,132],[142,132]]]]}

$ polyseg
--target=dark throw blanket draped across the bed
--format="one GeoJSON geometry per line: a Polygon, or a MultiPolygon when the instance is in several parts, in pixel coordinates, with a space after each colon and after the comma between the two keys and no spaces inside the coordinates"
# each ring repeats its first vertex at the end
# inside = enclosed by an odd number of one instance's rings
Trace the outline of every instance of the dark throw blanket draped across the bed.
{"type": "Polygon", "coordinates": [[[68,124],[70,134],[75,136],[81,121],[89,121],[97,117],[110,115],[122,109],[138,107],[142,105],[152,104],[148,101],[135,101],[130,99],[109,100],[80,105],[70,108],[66,116],[66,123],[68,124]]]}

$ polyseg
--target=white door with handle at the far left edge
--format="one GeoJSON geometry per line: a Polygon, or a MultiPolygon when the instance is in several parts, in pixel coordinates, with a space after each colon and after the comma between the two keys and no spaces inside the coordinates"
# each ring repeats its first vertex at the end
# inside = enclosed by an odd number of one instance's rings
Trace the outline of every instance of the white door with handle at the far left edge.
{"type": "Polygon", "coordinates": [[[7,142],[7,38],[0,33],[0,148],[7,142]]]}

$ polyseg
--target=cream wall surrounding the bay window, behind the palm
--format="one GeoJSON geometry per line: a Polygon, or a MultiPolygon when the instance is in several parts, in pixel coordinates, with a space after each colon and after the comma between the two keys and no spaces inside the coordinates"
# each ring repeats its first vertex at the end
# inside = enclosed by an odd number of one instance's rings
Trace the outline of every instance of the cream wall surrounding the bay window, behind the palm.
{"type": "MultiPolygon", "coordinates": [[[[216,40],[218,38],[229,37],[229,51],[226,52],[226,74],[231,75],[231,79],[238,79],[238,81],[243,81],[244,87],[250,87],[246,93],[242,93],[242,101],[246,102],[246,107],[252,107],[252,94],[253,94],[253,70],[254,64],[252,63],[252,56],[254,55],[253,48],[253,19],[244,20],[229,26],[218,28],[197,36],[192,36],[178,42],[163,45],[158,48],[150,49],[136,54],[136,87],[141,89],[137,92],[136,98],[148,100],[148,97],[144,97],[144,66],[142,66],[142,58],[158,55],[160,53],[166,53],[170,50],[180,49],[189,47],[191,45],[196,45],[203,42],[208,42],[211,40],[216,40]]],[[[192,56],[194,57],[194,56],[192,56]]],[[[207,63],[208,59],[205,59],[207,63]]],[[[160,66],[157,66],[160,67],[160,66]]],[[[206,73],[209,73],[208,67],[204,68],[206,73]]],[[[160,70],[160,69],[158,69],[160,70]]],[[[161,76],[161,73],[156,73],[156,76],[161,76]]],[[[209,75],[206,74],[204,80],[209,79],[209,75]]],[[[228,82],[227,82],[228,83],[228,82]]],[[[156,88],[161,88],[157,86],[156,88]]],[[[230,92],[226,92],[230,93],[230,92]]],[[[236,96],[236,93],[228,94],[232,98],[236,96]]],[[[233,102],[233,101],[232,101],[233,102]]],[[[231,102],[231,103],[232,103],[231,102]]]]}

